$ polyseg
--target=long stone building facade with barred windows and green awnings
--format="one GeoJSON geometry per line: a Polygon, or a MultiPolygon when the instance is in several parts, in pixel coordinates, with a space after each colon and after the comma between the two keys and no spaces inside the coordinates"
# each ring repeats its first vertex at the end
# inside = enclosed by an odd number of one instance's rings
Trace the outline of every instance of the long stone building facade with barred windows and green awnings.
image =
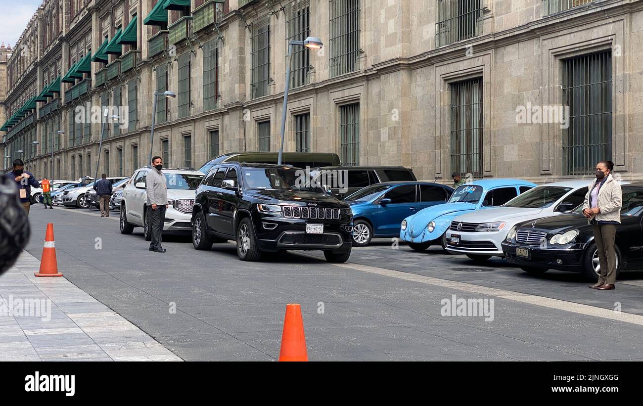
{"type": "Polygon", "coordinates": [[[276,151],[287,40],[312,35],[322,49],[293,48],[286,151],[442,182],[591,176],[601,159],[643,179],[642,0],[158,1],[42,3],[8,62],[6,116],[44,100],[3,127],[9,155],[38,176],[52,147],[57,178],[94,176],[99,157],[128,175],[148,164],[155,98],[166,166],[276,151]],[[100,151],[78,106],[118,107],[100,151]]]}

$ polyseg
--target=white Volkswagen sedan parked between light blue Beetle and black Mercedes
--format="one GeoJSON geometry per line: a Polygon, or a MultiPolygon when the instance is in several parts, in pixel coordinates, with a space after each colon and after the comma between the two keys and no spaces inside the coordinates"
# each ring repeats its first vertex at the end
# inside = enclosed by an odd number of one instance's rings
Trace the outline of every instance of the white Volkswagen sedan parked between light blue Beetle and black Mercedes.
{"type": "Polygon", "coordinates": [[[518,223],[568,213],[583,203],[592,179],[536,186],[503,206],[457,216],[446,231],[446,249],[484,262],[504,256],[501,243],[518,223]]]}

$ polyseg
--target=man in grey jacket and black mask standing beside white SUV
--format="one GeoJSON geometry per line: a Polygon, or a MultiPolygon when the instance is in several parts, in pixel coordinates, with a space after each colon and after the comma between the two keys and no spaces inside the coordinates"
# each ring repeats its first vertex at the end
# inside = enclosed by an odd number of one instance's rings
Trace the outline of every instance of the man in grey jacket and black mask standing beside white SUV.
{"type": "Polygon", "coordinates": [[[147,183],[147,219],[149,221],[150,251],[165,252],[161,247],[161,234],[163,234],[163,219],[165,219],[165,209],[167,209],[167,181],[165,175],[161,172],[163,169],[163,159],[156,156],[152,158],[152,170],[147,173],[145,182],[147,183]]]}

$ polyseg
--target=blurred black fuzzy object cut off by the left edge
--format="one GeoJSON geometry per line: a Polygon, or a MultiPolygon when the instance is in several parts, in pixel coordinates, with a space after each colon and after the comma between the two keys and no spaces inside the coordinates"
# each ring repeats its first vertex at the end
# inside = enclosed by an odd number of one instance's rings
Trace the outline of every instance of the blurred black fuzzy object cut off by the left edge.
{"type": "Polygon", "coordinates": [[[0,275],[14,265],[30,234],[29,218],[19,204],[15,182],[0,176],[0,275]]]}

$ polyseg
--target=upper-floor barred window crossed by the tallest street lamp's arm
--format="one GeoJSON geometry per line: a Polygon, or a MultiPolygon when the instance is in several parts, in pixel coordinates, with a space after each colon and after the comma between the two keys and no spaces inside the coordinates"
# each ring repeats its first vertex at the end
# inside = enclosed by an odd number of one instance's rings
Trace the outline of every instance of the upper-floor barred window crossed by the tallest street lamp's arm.
{"type": "MultiPolygon", "coordinates": [[[[303,41],[310,35],[310,0],[295,0],[285,8],[288,41],[303,41]]],[[[305,46],[293,47],[290,62],[290,87],[299,87],[309,83],[309,49],[305,46]]]]}

